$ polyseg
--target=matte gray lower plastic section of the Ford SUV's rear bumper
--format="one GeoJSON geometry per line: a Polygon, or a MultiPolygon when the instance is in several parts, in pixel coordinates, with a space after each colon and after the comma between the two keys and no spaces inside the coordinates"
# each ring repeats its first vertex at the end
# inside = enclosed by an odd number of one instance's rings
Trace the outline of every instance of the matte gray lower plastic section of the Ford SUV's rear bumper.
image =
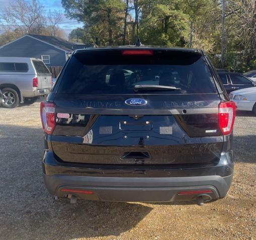
{"type": "Polygon", "coordinates": [[[78,199],[101,201],[193,201],[199,195],[206,200],[224,197],[232,175],[193,177],[94,177],[44,174],[49,192],[58,197],[67,194],[78,199]],[[65,191],[62,191],[65,189],[65,191]],[[67,190],[68,189],[68,190],[67,190]],[[89,191],[90,194],[77,190],[89,191]],[[184,191],[210,190],[207,194],[185,194],[184,191]],[[91,193],[92,192],[92,193],[91,193]],[[180,194],[179,194],[180,193],[180,194]]]}

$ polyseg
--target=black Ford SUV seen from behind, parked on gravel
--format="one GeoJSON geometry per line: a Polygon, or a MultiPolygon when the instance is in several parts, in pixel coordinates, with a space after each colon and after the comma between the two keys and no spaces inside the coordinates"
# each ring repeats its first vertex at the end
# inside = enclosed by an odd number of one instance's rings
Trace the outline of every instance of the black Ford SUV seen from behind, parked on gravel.
{"type": "Polygon", "coordinates": [[[43,173],[58,197],[224,197],[235,104],[198,49],[78,49],[41,103],[43,173]]]}

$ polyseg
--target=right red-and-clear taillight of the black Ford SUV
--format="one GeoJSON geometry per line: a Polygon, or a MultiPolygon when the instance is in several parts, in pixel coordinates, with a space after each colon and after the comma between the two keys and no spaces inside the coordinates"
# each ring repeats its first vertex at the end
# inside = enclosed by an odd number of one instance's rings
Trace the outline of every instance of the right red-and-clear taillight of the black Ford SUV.
{"type": "Polygon", "coordinates": [[[219,103],[219,127],[223,135],[229,134],[233,129],[235,119],[235,103],[226,101],[219,103]]]}

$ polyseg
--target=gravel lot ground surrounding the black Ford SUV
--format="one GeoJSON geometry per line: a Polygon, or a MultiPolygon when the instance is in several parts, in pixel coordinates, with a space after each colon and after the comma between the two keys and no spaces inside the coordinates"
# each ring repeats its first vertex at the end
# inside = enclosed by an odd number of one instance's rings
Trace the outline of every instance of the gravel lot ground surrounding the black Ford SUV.
{"type": "Polygon", "coordinates": [[[0,239],[256,239],[256,117],[239,112],[228,195],[196,204],[55,200],[41,175],[39,102],[0,108],[0,239]]]}

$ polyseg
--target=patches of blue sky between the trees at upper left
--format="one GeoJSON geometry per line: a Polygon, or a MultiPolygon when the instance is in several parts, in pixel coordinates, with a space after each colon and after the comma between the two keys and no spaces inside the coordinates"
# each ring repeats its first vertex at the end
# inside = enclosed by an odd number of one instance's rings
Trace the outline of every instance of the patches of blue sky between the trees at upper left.
{"type": "MultiPolygon", "coordinates": [[[[0,0],[0,6],[3,9],[4,7],[8,6],[8,4],[12,0],[0,0]]],[[[51,10],[61,10],[64,13],[64,8],[61,5],[61,0],[39,0],[44,6],[46,12],[51,10]]],[[[82,26],[82,23],[77,22],[74,19],[68,19],[67,17],[64,16],[63,21],[59,24],[61,28],[65,30],[65,32],[68,34],[72,29],[82,26]]]]}

